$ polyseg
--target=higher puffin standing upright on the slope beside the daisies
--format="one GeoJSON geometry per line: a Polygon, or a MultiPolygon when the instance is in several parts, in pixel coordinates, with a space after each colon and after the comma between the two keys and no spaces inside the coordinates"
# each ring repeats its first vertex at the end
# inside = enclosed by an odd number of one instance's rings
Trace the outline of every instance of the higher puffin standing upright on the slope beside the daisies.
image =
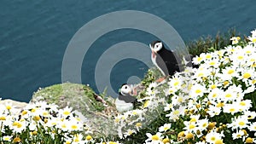
{"type": "Polygon", "coordinates": [[[159,40],[149,43],[149,47],[152,51],[151,60],[154,66],[160,70],[165,78],[169,75],[172,76],[175,72],[180,72],[179,66],[182,65],[182,62],[180,59],[176,59],[177,54],[174,51],[166,49],[159,40]]]}

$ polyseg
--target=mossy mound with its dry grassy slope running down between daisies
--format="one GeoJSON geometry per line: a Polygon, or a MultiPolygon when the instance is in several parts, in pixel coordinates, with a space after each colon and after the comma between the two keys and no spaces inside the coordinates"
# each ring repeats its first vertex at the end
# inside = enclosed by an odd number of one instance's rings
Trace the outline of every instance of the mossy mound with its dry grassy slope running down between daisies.
{"type": "Polygon", "coordinates": [[[44,89],[38,89],[32,96],[31,102],[46,101],[55,103],[59,108],[72,107],[73,111],[81,112],[89,120],[90,128],[95,137],[108,137],[113,131],[113,116],[116,109],[114,99],[105,97],[104,93],[96,95],[89,86],[84,84],[55,84],[44,89]],[[98,101],[100,96],[107,106],[98,101]]]}

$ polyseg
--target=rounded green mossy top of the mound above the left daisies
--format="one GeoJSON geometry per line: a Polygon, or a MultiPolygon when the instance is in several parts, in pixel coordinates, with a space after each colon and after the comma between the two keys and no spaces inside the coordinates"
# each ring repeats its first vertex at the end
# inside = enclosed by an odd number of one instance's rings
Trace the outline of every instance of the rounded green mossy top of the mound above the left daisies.
{"type": "MultiPolygon", "coordinates": [[[[55,103],[60,108],[68,106],[77,110],[87,109],[92,112],[102,112],[105,107],[101,101],[96,101],[95,95],[93,89],[87,85],[55,84],[44,89],[38,89],[33,94],[31,102],[46,101],[55,103]]],[[[112,101],[111,98],[108,98],[108,103],[112,103],[112,101]]]]}

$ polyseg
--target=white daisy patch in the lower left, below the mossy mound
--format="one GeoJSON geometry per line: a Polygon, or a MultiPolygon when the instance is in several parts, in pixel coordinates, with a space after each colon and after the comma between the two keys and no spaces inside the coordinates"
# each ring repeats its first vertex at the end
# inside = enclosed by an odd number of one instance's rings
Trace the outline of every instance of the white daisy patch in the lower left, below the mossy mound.
{"type": "Polygon", "coordinates": [[[0,143],[90,143],[86,118],[66,107],[58,109],[46,102],[19,109],[5,103],[0,106],[0,143]],[[84,132],[82,135],[81,132],[84,132]]]}

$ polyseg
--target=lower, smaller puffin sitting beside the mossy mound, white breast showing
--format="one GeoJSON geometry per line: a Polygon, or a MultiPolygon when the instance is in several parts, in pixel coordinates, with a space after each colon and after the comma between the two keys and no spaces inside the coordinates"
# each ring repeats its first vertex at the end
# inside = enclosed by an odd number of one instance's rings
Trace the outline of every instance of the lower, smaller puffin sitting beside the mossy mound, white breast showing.
{"type": "Polygon", "coordinates": [[[119,89],[119,96],[115,100],[115,107],[118,112],[126,112],[133,109],[137,98],[131,95],[132,88],[128,84],[122,84],[119,89]]]}

